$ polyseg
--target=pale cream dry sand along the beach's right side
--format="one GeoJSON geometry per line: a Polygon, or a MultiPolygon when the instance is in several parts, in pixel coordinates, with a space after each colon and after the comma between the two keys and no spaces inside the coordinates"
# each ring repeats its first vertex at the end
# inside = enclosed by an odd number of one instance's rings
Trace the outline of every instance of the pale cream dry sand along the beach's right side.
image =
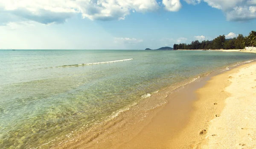
{"type": "Polygon", "coordinates": [[[211,120],[203,149],[256,148],[256,63],[229,75],[226,106],[211,120]]]}

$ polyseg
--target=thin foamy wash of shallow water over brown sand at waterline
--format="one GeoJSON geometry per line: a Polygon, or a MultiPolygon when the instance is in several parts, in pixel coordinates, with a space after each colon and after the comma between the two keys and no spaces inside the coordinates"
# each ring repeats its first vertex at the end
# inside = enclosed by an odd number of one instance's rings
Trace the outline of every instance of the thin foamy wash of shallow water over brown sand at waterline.
{"type": "MultiPolygon", "coordinates": [[[[208,74],[209,73],[201,74],[201,77],[207,76],[208,74]]],[[[200,80],[201,77],[177,82],[173,86],[158,90],[152,93],[151,96],[144,99],[142,98],[138,103],[134,103],[118,112],[114,112],[109,120],[104,123],[99,123],[95,128],[79,134],[77,138],[64,140],[57,145],[55,144],[49,147],[53,149],[119,148],[120,144],[129,142],[141,132],[141,130],[150,123],[151,119],[170,102],[166,98],[172,99],[174,96],[172,94],[176,95],[183,86],[196,82],[200,80]],[[91,133],[93,131],[94,133],[91,133]]],[[[178,103],[177,101],[175,102],[178,103]]],[[[175,109],[173,110],[175,111],[175,109]]]]}

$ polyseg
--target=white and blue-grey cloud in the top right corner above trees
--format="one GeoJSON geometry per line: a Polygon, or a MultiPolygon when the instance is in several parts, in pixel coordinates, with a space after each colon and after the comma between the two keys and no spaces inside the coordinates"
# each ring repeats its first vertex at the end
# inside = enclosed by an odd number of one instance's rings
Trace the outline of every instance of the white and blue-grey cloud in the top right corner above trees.
{"type": "Polygon", "coordinates": [[[224,12],[227,20],[244,21],[256,18],[256,0],[204,0],[224,12]]]}

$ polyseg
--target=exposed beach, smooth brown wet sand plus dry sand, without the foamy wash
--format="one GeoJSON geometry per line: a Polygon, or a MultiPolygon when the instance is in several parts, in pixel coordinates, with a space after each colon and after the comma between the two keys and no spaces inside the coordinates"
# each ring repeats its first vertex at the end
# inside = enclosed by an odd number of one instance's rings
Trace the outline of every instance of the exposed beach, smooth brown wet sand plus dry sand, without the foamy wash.
{"type": "Polygon", "coordinates": [[[167,104],[136,137],[119,148],[255,148],[255,74],[253,62],[186,86],[182,94],[172,97],[182,100],[180,105],[167,104]]]}

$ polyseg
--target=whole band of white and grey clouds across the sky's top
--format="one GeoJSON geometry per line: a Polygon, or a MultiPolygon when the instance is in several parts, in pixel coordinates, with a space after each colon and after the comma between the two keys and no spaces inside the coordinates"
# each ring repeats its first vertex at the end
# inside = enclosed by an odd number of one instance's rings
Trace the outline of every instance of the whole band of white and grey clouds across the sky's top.
{"type": "MultiPolygon", "coordinates": [[[[227,20],[256,18],[256,0],[183,0],[196,5],[207,3],[224,12],[227,20]]],[[[124,20],[132,12],[146,13],[165,9],[179,11],[181,0],[0,0],[0,25],[35,21],[42,24],[64,23],[81,14],[90,20],[124,20]]]]}

